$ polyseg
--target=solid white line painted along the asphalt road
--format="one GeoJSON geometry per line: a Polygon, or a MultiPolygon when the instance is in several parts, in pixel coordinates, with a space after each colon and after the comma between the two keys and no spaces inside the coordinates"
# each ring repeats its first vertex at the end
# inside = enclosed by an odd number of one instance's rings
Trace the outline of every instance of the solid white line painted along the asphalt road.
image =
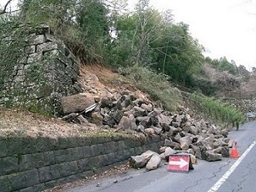
{"type": "Polygon", "coordinates": [[[248,152],[251,151],[251,149],[255,146],[255,144],[256,144],[256,140],[253,141],[253,143],[250,145],[250,147],[248,147],[248,149],[245,152],[243,152],[243,155],[237,159],[237,161],[232,165],[232,167],[227,170],[227,172],[221,177],[221,179],[219,179],[216,182],[216,184],[214,184],[211,187],[211,189],[208,190],[208,192],[215,192],[215,191],[217,191],[217,189],[219,189],[221,187],[221,184],[223,184],[228,179],[228,177],[231,175],[231,173],[243,161],[243,158],[248,155],[248,152]]]}

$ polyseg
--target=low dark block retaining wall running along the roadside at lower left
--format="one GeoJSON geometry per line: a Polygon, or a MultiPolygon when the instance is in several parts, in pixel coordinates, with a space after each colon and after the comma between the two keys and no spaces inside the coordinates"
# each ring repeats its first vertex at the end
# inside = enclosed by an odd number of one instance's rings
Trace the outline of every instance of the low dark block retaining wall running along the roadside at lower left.
{"type": "Polygon", "coordinates": [[[148,149],[164,136],[1,138],[0,191],[42,191],[84,179],[148,149]]]}

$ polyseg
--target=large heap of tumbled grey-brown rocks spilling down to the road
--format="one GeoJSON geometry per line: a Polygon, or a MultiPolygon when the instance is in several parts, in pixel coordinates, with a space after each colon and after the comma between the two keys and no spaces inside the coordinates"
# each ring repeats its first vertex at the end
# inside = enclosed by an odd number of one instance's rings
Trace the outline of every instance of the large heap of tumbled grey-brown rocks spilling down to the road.
{"type": "MultiPolygon", "coordinates": [[[[88,93],[77,94],[63,98],[62,106],[66,114],[75,112],[77,121],[81,124],[90,122],[115,130],[132,130],[147,135],[165,134],[168,139],[165,139],[164,147],[159,150],[164,157],[175,152],[189,152],[206,161],[229,157],[231,141],[227,138],[228,130],[211,125],[205,120],[195,120],[182,107],[174,114],[128,92],[103,98],[95,98],[88,93]],[[79,115],[79,112],[92,105],[95,106],[93,110],[79,115]]],[[[147,156],[147,160],[150,161],[151,157],[154,156],[147,156]]]]}

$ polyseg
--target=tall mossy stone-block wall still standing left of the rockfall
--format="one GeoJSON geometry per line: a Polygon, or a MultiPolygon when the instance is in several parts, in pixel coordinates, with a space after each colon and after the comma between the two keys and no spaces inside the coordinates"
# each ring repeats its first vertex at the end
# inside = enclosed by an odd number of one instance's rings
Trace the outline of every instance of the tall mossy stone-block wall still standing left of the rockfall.
{"type": "Polygon", "coordinates": [[[61,97],[82,91],[77,83],[76,58],[61,40],[51,35],[48,26],[28,28],[26,33],[14,38],[19,30],[22,29],[13,29],[12,34],[4,35],[0,41],[9,55],[0,61],[0,105],[60,115],[61,97]],[[14,58],[10,49],[18,46],[19,50],[13,52],[19,51],[19,56],[14,58]]]}

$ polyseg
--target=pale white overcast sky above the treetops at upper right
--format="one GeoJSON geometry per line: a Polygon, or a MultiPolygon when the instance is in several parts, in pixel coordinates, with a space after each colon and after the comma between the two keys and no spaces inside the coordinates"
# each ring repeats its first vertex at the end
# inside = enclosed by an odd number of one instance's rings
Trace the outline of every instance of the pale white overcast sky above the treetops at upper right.
{"type": "MultiPolygon", "coordinates": [[[[130,6],[137,1],[129,0],[130,6]]],[[[151,0],[159,11],[171,9],[176,22],[189,24],[190,34],[207,50],[205,56],[256,67],[255,0],[151,0]]]]}

